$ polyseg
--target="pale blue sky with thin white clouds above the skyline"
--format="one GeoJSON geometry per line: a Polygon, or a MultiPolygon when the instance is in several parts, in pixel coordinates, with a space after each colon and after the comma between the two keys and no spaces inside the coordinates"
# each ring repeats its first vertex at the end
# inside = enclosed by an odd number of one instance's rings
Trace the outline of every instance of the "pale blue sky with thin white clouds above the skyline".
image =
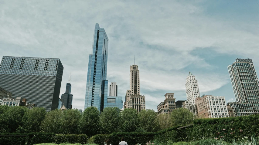
{"type": "Polygon", "coordinates": [[[259,73],[259,1],[0,0],[0,58],[60,58],[65,92],[72,74],[73,108],[84,109],[95,23],[109,38],[107,80],[124,100],[130,65],[140,94],[157,111],[166,93],[187,100],[189,71],[200,95],[235,101],[227,66],[250,58],[259,73]]]}

